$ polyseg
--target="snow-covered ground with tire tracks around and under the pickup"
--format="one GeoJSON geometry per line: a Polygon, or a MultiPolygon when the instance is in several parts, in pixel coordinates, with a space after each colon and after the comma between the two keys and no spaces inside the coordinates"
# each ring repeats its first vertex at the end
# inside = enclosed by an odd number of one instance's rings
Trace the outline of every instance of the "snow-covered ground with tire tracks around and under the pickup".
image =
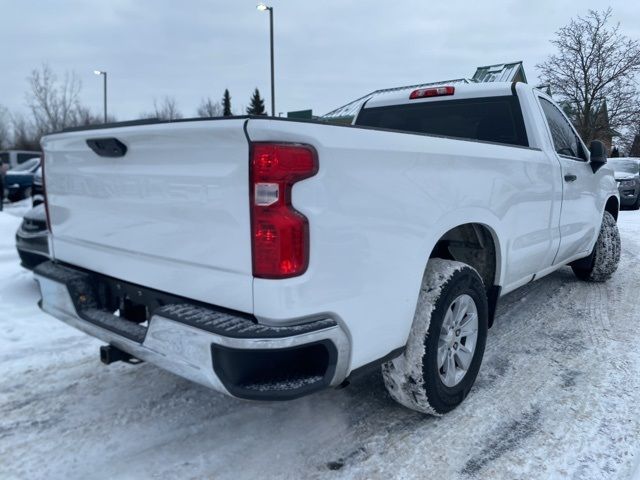
{"type": "Polygon", "coordinates": [[[224,397],[40,313],[0,213],[0,478],[630,478],[640,464],[640,212],[603,285],[509,294],[464,404],[397,405],[379,374],[287,403],[224,397]]]}

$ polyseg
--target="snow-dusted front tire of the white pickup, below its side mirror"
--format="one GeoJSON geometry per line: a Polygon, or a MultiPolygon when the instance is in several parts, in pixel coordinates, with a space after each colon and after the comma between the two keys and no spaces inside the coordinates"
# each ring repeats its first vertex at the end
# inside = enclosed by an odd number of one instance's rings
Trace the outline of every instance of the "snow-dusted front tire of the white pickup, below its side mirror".
{"type": "Polygon", "coordinates": [[[618,269],[620,262],[620,232],[615,218],[604,212],[598,240],[591,255],[571,264],[573,273],[586,282],[604,282],[618,269]]]}

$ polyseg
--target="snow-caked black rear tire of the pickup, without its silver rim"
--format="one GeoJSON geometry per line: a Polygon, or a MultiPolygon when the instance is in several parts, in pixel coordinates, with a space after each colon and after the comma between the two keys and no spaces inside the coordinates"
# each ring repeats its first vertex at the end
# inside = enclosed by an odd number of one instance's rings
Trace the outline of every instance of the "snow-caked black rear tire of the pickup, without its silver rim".
{"type": "Polygon", "coordinates": [[[482,278],[469,265],[439,258],[429,260],[405,352],[382,366],[387,391],[400,404],[442,415],[466,398],[476,380],[488,329],[487,295],[482,278]],[[466,373],[454,386],[445,385],[438,366],[438,343],[445,315],[460,296],[477,309],[477,339],[466,373]]]}

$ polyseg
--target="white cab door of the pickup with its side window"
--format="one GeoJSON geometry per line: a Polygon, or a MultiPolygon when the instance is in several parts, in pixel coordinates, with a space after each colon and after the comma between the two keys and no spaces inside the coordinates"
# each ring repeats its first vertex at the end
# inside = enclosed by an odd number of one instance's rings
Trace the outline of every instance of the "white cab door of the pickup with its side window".
{"type": "Polygon", "coordinates": [[[598,207],[598,176],[588,162],[586,147],[564,113],[542,95],[538,95],[538,101],[562,175],[560,244],[553,262],[558,265],[593,248],[602,215],[598,207]]]}

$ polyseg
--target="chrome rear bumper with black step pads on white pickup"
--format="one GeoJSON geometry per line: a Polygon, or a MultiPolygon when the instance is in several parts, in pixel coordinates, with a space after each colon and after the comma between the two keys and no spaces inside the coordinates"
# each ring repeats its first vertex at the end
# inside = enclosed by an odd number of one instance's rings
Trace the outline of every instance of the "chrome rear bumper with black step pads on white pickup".
{"type": "MultiPolygon", "coordinates": [[[[183,302],[154,309],[140,324],[101,308],[108,283],[101,284],[97,274],[53,262],[34,273],[43,311],[140,360],[234,397],[288,400],[337,386],[347,374],[349,341],[332,319],[269,327],[243,314],[183,302]]],[[[139,293],[145,298],[152,292],[139,293]]]]}

